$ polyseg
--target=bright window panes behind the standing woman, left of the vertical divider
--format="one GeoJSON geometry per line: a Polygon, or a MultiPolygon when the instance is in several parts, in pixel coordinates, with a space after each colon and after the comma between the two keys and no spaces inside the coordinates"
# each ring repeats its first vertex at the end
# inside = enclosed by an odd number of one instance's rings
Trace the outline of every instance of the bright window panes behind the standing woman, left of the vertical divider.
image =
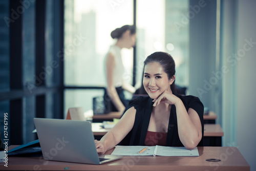
{"type": "MultiPolygon", "coordinates": [[[[103,59],[115,43],[110,33],[123,25],[133,25],[133,1],[65,1],[65,86],[105,87],[103,59]]],[[[123,49],[127,82],[132,83],[133,49],[123,49]]],[[[66,90],[65,112],[83,106],[92,109],[94,96],[103,90],[66,90]]]]}

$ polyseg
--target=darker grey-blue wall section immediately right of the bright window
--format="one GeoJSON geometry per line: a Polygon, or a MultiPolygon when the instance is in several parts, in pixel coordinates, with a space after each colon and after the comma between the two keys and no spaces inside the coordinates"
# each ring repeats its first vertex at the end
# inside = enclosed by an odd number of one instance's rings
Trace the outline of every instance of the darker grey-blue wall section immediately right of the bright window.
{"type": "MultiPolygon", "coordinates": [[[[217,111],[215,99],[221,79],[216,73],[216,1],[189,1],[189,95],[200,98],[205,107],[217,111]]],[[[220,123],[218,120],[217,123],[220,123]]]]}

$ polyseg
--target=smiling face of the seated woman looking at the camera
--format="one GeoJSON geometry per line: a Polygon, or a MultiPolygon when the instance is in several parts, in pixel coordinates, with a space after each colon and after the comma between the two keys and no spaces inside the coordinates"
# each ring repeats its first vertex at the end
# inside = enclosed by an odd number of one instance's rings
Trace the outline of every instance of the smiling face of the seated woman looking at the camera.
{"type": "Polygon", "coordinates": [[[145,65],[143,86],[147,94],[152,98],[158,98],[165,90],[170,90],[170,84],[167,74],[158,62],[150,62],[145,65]]]}

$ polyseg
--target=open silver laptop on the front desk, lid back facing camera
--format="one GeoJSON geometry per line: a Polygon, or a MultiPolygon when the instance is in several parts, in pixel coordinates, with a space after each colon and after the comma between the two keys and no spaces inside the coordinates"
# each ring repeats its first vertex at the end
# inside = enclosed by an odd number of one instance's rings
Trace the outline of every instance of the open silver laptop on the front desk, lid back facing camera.
{"type": "Polygon", "coordinates": [[[34,123],[45,160],[102,164],[123,157],[98,155],[89,121],[34,118],[34,123]]]}

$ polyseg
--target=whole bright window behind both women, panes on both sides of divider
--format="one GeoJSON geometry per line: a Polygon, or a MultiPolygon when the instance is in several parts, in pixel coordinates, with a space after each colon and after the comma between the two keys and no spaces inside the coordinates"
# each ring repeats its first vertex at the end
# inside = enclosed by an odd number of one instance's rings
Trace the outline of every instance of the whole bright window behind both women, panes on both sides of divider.
{"type": "MultiPolygon", "coordinates": [[[[137,48],[136,66],[133,50],[123,49],[126,81],[133,83],[136,70],[136,88],[141,86],[143,61],[156,51],[170,53],[176,61],[176,83],[188,86],[188,23],[177,28],[175,22],[186,14],[185,1],[65,1],[65,112],[74,106],[92,109],[93,93],[88,90],[103,88],[105,76],[103,59],[114,44],[110,33],[123,25],[133,24],[136,2],[137,48]],[[89,93],[90,92],[90,93],[89,93]],[[81,95],[83,94],[83,95],[81,95]]],[[[93,90],[102,96],[102,90],[93,90]]],[[[126,94],[127,95],[127,94],[126,94]]]]}

